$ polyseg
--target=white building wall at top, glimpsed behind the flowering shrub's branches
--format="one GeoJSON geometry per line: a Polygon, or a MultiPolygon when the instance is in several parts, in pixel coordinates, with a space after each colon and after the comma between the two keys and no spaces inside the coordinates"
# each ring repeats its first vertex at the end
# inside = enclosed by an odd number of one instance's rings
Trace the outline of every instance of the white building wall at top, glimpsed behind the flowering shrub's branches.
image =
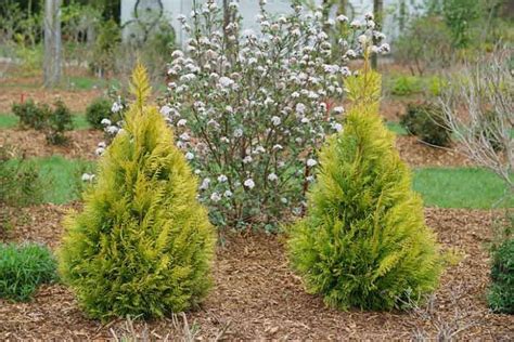
{"type": "MultiPolygon", "coordinates": [[[[150,5],[155,3],[157,0],[140,0],[142,6],[150,5]]],[[[182,31],[177,16],[179,14],[184,14],[189,16],[191,13],[193,1],[192,0],[160,0],[164,6],[165,14],[170,18],[176,31],[177,39],[179,42],[183,42],[185,35],[182,31]]],[[[321,0],[314,0],[321,2],[321,0]]],[[[202,3],[202,0],[197,0],[198,3],[202,3]]],[[[218,0],[221,4],[222,0],[218,0]]],[[[240,0],[240,10],[243,15],[243,29],[252,28],[257,30],[258,25],[256,23],[256,15],[259,13],[258,0],[240,0]]],[[[127,23],[133,18],[134,5],[137,0],[121,0],[121,23],[127,23]]],[[[367,12],[373,10],[373,0],[350,0],[351,8],[354,9],[355,17],[359,18],[367,12]]],[[[385,22],[384,22],[384,31],[387,36],[397,36],[398,28],[395,23],[395,16],[399,12],[398,6],[399,0],[384,0],[384,12],[385,12],[385,22]]],[[[406,0],[408,5],[408,12],[413,13],[416,11],[416,6],[423,3],[423,0],[406,0]]],[[[267,4],[268,11],[272,13],[287,13],[291,11],[291,1],[290,0],[268,0],[267,4]]]]}

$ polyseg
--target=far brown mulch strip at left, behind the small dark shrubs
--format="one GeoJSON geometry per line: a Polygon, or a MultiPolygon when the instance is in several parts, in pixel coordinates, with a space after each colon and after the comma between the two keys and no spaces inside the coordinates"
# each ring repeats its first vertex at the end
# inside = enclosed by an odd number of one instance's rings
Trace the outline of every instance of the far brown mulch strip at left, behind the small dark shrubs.
{"type": "MultiPolygon", "coordinates": [[[[8,82],[7,80],[5,82],[8,82]]],[[[13,103],[21,103],[28,98],[37,103],[52,104],[61,98],[73,113],[83,113],[87,106],[98,96],[102,95],[100,90],[47,90],[43,88],[1,88],[0,89],[0,113],[11,113],[13,103]]]]}

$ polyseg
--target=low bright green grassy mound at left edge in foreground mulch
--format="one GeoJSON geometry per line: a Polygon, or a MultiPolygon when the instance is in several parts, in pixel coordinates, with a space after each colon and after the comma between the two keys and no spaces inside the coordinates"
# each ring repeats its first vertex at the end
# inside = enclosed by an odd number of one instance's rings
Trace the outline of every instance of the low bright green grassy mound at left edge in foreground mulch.
{"type": "Polygon", "coordinates": [[[56,263],[41,245],[0,244],[0,298],[28,301],[41,284],[56,280],[56,263]]]}

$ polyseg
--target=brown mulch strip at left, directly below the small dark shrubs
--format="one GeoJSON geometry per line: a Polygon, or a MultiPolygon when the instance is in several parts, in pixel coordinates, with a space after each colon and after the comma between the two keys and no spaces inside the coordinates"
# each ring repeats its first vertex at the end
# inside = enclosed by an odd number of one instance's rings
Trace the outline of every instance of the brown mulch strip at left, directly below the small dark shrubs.
{"type": "Polygon", "coordinates": [[[69,143],[65,146],[47,144],[44,133],[35,130],[2,129],[0,146],[12,146],[26,157],[50,157],[62,155],[66,158],[94,159],[98,143],[103,141],[103,132],[77,130],[66,133],[69,143]]]}

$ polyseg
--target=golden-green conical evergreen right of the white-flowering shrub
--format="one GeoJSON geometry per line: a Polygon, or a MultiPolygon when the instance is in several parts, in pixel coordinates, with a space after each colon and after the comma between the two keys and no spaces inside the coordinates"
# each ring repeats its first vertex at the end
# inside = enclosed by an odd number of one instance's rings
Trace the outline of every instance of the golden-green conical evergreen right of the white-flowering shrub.
{"type": "Polygon", "coordinates": [[[346,86],[352,106],[320,152],[307,216],[290,232],[290,259],[330,306],[401,307],[436,288],[439,248],[378,116],[380,75],[367,66],[346,86]]]}

